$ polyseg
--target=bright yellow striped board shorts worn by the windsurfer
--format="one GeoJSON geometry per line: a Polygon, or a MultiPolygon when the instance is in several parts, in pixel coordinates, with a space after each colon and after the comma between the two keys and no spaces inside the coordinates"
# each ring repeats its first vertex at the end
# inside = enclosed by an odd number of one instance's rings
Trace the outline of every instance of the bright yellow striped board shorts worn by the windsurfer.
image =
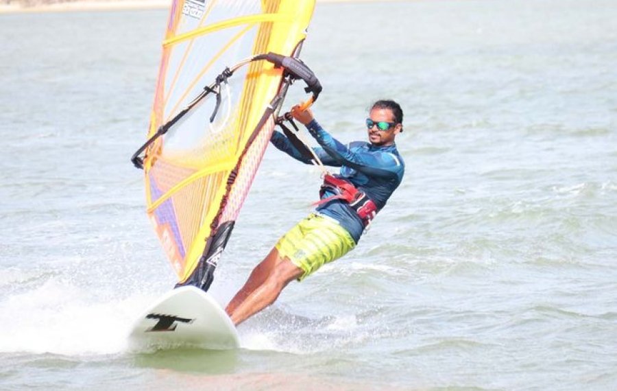
{"type": "Polygon", "coordinates": [[[355,246],[356,242],[339,222],[311,213],[287,231],[274,247],[281,258],[287,257],[304,271],[298,279],[302,281],[324,264],[343,257],[355,246]]]}

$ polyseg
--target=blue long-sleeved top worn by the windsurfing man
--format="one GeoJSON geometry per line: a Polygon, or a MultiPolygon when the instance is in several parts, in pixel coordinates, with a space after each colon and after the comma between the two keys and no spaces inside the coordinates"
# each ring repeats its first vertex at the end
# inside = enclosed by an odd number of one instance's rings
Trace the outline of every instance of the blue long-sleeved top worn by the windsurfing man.
{"type": "MultiPolygon", "coordinates": [[[[390,195],[400,185],[405,170],[405,163],[398,154],[396,145],[378,146],[364,141],[353,141],[348,145],[343,145],[319,126],[315,119],[306,128],[309,129],[311,136],[317,140],[317,143],[321,145],[321,147],[315,147],[313,150],[322,163],[332,167],[341,167],[341,172],[337,177],[352,182],[357,189],[366,193],[380,211],[390,195]]],[[[300,151],[285,137],[285,134],[274,132],[270,141],[279,150],[296,160],[311,164],[311,161],[300,154],[300,151]]],[[[330,195],[333,195],[333,193],[326,191],[322,195],[322,199],[330,197],[330,195]]],[[[317,206],[317,213],[337,220],[358,243],[364,225],[346,201],[330,200],[317,206]]]]}

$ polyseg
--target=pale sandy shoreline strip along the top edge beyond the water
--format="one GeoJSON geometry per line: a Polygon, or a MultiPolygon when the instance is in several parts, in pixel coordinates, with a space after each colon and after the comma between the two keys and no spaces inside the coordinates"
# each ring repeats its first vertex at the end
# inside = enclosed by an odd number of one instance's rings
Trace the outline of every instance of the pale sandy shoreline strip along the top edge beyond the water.
{"type": "MultiPolygon", "coordinates": [[[[375,0],[315,0],[316,3],[367,3],[372,1],[375,0]]],[[[170,5],[171,0],[80,0],[32,6],[24,6],[16,2],[12,2],[9,4],[0,4],[0,15],[71,11],[156,10],[161,8],[169,8],[170,5]]]]}

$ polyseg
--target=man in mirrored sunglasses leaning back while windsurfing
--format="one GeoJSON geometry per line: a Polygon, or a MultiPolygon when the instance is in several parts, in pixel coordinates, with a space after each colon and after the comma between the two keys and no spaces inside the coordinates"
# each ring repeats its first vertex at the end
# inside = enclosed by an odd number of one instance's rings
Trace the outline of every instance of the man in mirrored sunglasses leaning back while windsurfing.
{"type": "MultiPolygon", "coordinates": [[[[236,325],[274,303],[292,280],[302,281],[324,263],[352,250],[404,174],[404,162],[394,143],[402,132],[403,117],[396,102],[379,100],[373,104],[366,119],[369,143],[339,143],[319,126],[311,110],[295,106],[291,115],[321,145],[313,150],[322,163],[341,167],[341,171],[338,176],[325,176],[315,213],[281,237],[232,298],[226,311],[236,325]]],[[[291,157],[310,163],[280,132],[272,134],[271,142],[291,157]]]]}

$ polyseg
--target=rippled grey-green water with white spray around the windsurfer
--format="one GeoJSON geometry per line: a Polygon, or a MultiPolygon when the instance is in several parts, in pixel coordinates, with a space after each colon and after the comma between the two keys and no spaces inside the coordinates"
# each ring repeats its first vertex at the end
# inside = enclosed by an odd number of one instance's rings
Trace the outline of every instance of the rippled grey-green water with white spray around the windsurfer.
{"type": "MultiPolygon", "coordinates": [[[[175,282],[128,161],[166,18],[0,16],[1,389],[617,388],[617,3],[319,3],[319,121],[364,139],[367,106],[394,97],[407,174],[353,252],[222,353],[126,346],[175,282]]],[[[220,303],[318,185],[268,150],[220,303]]]]}

